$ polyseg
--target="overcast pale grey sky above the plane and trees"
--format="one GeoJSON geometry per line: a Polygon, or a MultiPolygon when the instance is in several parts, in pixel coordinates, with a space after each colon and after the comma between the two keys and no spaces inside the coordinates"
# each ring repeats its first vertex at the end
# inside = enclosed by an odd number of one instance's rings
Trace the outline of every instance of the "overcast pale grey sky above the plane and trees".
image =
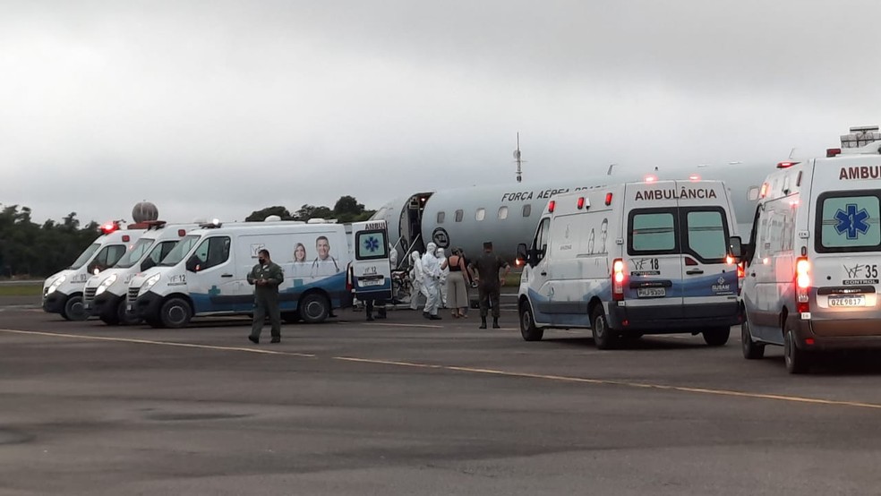
{"type": "Polygon", "coordinates": [[[242,219],[823,153],[881,124],[877,0],[0,0],[0,203],[242,219]]]}

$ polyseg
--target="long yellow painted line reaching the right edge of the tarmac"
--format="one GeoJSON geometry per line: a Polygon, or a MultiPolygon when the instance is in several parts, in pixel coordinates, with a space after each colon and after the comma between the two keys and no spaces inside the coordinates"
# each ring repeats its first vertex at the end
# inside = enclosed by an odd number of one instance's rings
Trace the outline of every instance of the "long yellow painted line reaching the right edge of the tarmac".
{"type": "Polygon", "coordinates": [[[710,388],[689,388],[688,386],[668,386],[664,384],[651,384],[646,382],[631,381],[615,381],[611,379],[590,379],[586,377],[572,377],[566,375],[547,375],[529,372],[507,372],[494,369],[480,369],[475,367],[459,367],[456,365],[437,365],[432,363],[414,363],[414,362],[398,362],[393,360],[377,360],[371,358],[355,358],[354,356],[334,356],[334,360],[356,363],[375,363],[381,365],[396,365],[401,367],[413,367],[420,369],[434,369],[454,372],[482,373],[489,375],[499,375],[503,377],[517,377],[522,379],[543,379],[546,381],[560,382],[577,382],[582,384],[596,384],[603,386],[625,386],[628,388],[640,389],[660,389],[668,391],[678,391],[692,394],[727,396],[733,398],[752,398],[752,399],[771,399],[775,401],[787,401],[791,403],[807,403],[810,405],[828,405],[828,406],[851,406],[857,408],[881,409],[881,404],[863,403],[860,401],[843,401],[835,399],[807,398],[789,395],[775,395],[766,393],[748,393],[744,391],[734,391],[729,389],[710,389],[710,388]]]}

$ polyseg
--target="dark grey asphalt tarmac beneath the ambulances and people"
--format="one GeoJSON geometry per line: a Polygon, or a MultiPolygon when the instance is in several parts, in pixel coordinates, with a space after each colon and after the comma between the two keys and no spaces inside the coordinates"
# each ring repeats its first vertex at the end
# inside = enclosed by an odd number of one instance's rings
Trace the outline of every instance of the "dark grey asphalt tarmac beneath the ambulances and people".
{"type": "MultiPolygon", "coordinates": [[[[2,302],[0,302],[2,304],[2,302]]],[[[389,312],[190,329],[0,307],[0,494],[878,494],[881,355],[791,376],[739,333],[503,329],[389,312]]]]}

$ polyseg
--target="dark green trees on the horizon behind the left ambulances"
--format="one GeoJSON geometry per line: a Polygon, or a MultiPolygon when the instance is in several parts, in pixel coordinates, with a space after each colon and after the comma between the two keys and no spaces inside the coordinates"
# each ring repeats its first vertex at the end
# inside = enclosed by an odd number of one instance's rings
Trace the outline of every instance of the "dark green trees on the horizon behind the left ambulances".
{"type": "MultiPolygon", "coordinates": [[[[264,220],[278,215],[283,220],[336,218],[338,222],[366,220],[373,210],[364,209],[352,196],[342,196],[333,209],[303,205],[290,212],[285,207],[254,210],[245,220],[264,220]]],[[[76,257],[100,235],[99,224],[90,221],[81,225],[76,212],[61,222],[34,222],[29,207],[0,205],[0,278],[45,278],[69,267],[76,257]]]]}

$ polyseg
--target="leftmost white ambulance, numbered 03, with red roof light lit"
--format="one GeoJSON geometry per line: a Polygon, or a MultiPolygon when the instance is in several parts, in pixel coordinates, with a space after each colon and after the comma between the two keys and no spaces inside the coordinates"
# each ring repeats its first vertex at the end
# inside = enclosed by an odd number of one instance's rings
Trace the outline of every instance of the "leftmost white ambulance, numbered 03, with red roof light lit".
{"type": "Polygon", "coordinates": [[[120,222],[100,227],[101,235],[83,251],[73,264],[43,282],[43,310],[61,313],[68,321],[89,318],[82,305],[86,281],[104,269],[113,267],[144,233],[144,226],[132,224],[123,229],[120,222]]]}

